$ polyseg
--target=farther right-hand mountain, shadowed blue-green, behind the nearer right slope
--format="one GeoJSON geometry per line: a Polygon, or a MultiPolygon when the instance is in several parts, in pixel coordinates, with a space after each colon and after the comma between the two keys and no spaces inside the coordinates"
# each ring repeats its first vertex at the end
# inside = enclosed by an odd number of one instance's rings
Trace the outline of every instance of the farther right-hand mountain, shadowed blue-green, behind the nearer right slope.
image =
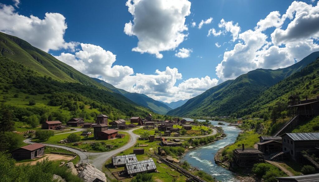
{"type": "Polygon", "coordinates": [[[169,115],[179,116],[215,116],[229,115],[242,110],[248,101],[257,98],[263,91],[299,72],[315,61],[319,52],[314,52],[300,62],[283,69],[256,69],[215,86],[203,94],[189,99],[183,106],[169,111],[169,115]],[[194,102],[196,101],[196,102],[194,102]]]}

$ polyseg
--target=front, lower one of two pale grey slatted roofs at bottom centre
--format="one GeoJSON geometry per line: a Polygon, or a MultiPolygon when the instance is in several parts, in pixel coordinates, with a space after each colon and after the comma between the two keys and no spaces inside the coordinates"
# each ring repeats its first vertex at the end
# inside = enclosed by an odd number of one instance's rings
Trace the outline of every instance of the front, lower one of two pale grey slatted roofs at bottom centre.
{"type": "Polygon", "coordinates": [[[136,174],[139,172],[154,171],[156,170],[156,165],[153,159],[148,159],[144,161],[125,164],[125,169],[127,170],[128,174],[136,174]]]}

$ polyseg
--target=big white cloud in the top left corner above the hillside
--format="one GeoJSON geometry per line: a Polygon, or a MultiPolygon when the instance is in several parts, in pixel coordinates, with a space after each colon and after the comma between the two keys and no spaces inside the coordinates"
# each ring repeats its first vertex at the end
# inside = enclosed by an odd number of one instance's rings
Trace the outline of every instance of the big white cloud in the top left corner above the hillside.
{"type": "Polygon", "coordinates": [[[74,50],[78,43],[65,42],[63,38],[67,27],[60,13],[45,13],[44,19],[33,15],[26,17],[15,12],[13,6],[0,4],[0,31],[24,39],[43,51],[74,50]]]}

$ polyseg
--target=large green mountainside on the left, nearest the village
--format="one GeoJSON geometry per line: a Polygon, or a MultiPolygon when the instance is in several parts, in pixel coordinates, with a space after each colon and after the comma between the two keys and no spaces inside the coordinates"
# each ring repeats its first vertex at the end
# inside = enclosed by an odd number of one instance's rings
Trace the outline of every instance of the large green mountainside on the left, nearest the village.
{"type": "Polygon", "coordinates": [[[113,119],[144,117],[151,112],[26,41],[4,33],[0,33],[0,64],[2,107],[22,109],[24,114],[17,114],[17,120],[43,113],[65,121],[70,116],[93,120],[97,113],[113,119]],[[31,101],[36,104],[29,104],[31,101]],[[59,113],[64,117],[54,116],[59,113]]]}

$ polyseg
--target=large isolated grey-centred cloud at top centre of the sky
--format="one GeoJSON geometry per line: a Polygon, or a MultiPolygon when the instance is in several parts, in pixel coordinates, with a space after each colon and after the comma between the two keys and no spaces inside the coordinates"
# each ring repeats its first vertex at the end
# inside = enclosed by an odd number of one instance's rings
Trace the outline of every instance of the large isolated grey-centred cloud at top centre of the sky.
{"type": "Polygon", "coordinates": [[[126,6],[133,22],[126,23],[124,33],[137,36],[132,51],[162,58],[161,51],[174,50],[188,34],[185,17],[190,14],[188,0],[128,0],[126,6]]]}

